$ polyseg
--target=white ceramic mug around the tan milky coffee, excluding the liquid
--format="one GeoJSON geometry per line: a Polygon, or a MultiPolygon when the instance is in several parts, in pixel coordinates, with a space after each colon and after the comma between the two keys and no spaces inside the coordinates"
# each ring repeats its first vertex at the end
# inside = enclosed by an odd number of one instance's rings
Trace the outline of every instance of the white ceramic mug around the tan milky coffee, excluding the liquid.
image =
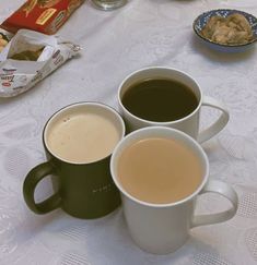
{"type": "Polygon", "coordinates": [[[110,172],[121,194],[124,214],[130,234],[142,250],[150,253],[167,254],[176,251],[186,242],[191,228],[229,220],[235,215],[238,206],[237,194],[231,185],[218,180],[209,180],[209,161],[201,146],[192,137],[175,129],[149,127],[128,134],[118,143],[113,153],[110,172]],[[196,154],[202,166],[202,181],[194,193],[175,203],[153,204],[136,198],[124,189],[117,173],[119,157],[128,146],[148,137],[175,140],[196,154]],[[232,207],[221,213],[195,215],[197,197],[209,192],[219,193],[227,198],[232,207]]]}

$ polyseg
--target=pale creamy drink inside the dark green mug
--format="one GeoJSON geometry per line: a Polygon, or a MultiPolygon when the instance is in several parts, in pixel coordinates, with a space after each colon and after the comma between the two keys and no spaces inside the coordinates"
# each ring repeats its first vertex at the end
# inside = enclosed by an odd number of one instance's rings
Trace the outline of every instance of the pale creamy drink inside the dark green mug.
{"type": "Polygon", "coordinates": [[[67,115],[47,135],[50,150],[70,162],[92,162],[112,154],[120,136],[110,119],[93,111],[67,115]]]}

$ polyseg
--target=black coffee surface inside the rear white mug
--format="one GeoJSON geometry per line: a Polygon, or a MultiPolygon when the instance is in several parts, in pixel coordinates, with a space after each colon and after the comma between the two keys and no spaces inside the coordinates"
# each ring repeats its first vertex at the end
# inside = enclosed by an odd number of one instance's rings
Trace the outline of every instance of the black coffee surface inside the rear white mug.
{"type": "Polygon", "coordinates": [[[121,101],[132,115],[157,122],[182,119],[198,106],[198,99],[189,87],[168,79],[136,83],[125,92],[121,101]]]}

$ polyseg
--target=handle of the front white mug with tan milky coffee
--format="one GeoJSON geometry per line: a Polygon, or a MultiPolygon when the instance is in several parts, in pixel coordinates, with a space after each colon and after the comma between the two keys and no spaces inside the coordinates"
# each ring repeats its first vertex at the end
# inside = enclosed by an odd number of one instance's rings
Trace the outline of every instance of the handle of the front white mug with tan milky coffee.
{"type": "Polygon", "coordinates": [[[194,216],[190,226],[191,228],[229,220],[235,215],[237,210],[238,197],[235,190],[229,184],[218,180],[209,180],[201,190],[200,194],[208,192],[219,193],[223,197],[227,198],[232,203],[232,207],[227,210],[217,214],[194,216]]]}

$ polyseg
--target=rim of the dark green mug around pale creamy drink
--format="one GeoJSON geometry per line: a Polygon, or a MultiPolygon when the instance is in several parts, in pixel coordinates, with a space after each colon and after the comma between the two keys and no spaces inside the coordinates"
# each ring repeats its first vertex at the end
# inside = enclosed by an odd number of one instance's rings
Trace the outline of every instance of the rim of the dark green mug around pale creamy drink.
{"type": "MultiPolygon", "coordinates": [[[[49,125],[50,121],[57,117],[59,113],[61,113],[62,111],[65,111],[66,109],[68,108],[72,108],[72,107],[75,107],[75,106],[80,106],[80,105],[87,105],[87,106],[98,106],[98,107],[102,107],[104,109],[108,109],[108,111],[112,111],[117,118],[118,120],[120,121],[120,124],[121,124],[121,136],[118,141],[118,143],[124,138],[125,134],[126,134],[126,128],[125,128],[125,122],[124,122],[124,119],[121,118],[120,113],[113,107],[108,106],[107,104],[103,104],[103,103],[98,103],[98,101],[78,101],[78,103],[73,103],[73,104],[69,104],[60,109],[58,109],[56,112],[54,112],[49,118],[48,120],[46,121],[45,125],[44,125],[44,129],[43,129],[43,144],[44,144],[44,147],[46,148],[46,150],[55,158],[59,159],[60,161],[63,161],[63,162],[67,162],[67,164],[70,164],[70,165],[93,165],[93,164],[97,164],[102,160],[105,160],[107,159],[108,157],[112,156],[112,154],[114,153],[114,149],[110,154],[108,154],[107,156],[105,157],[102,157],[101,159],[97,159],[97,160],[93,160],[93,161],[87,161],[87,162],[75,162],[75,161],[69,161],[67,159],[63,159],[61,158],[60,156],[57,156],[56,154],[52,153],[52,150],[49,148],[49,146],[47,145],[47,141],[46,141],[46,131],[47,131],[47,127],[49,125]]],[[[116,144],[117,145],[117,144],[116,144]]],[[[116,147],[115,145],[115,147],[116,147]]]]}

